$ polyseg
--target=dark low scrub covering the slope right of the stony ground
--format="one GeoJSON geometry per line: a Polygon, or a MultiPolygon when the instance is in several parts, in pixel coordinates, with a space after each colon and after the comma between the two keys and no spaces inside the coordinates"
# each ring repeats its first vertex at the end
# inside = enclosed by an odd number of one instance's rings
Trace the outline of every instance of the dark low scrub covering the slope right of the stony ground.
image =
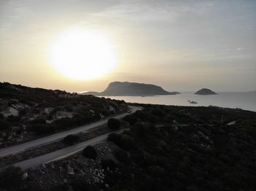
{"type": "Polygon", "coordinates": [[[256,189],[255,112],[144,107],[135,114],[139,123],[108,136],[121,148],[113,152],[121,175],[108,174],[111,190],[256,189]]]}

